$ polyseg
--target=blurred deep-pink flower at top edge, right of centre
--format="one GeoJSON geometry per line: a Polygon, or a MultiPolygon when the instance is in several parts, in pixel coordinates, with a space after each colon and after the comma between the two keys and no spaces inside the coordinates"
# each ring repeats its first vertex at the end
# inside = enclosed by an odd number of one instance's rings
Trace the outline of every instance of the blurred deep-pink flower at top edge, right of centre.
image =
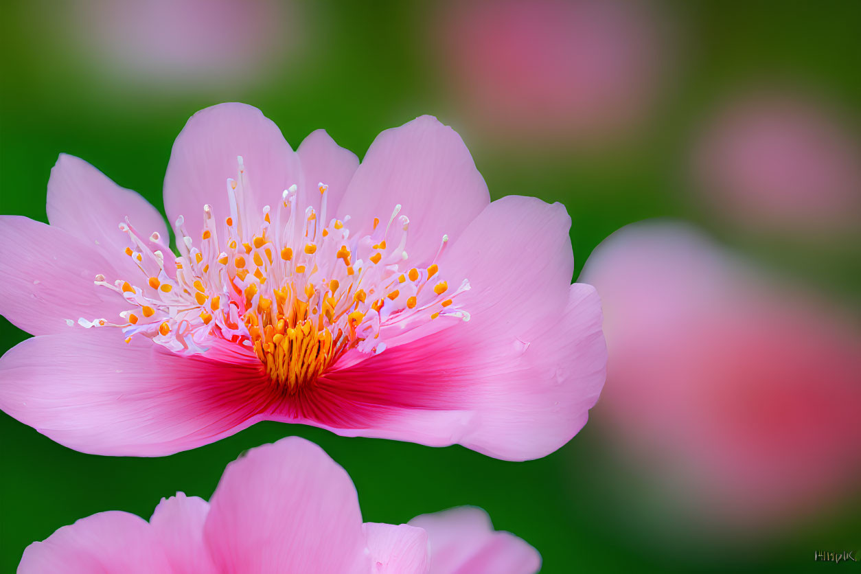
{"type": "MultiPolygon", "coordinates": [[[[530,145],[629,133],[663,76],[659,15],[616,0],[451,2],[437,46],[465,117],[530,145]]],[[[522,144],[522,142],[518,142],[522,144]]]]}

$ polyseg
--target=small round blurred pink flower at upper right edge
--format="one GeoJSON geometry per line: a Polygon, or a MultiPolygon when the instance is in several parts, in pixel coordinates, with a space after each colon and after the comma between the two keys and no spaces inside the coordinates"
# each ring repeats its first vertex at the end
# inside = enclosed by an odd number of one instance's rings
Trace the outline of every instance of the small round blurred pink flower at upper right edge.
{"type": "Polygon", "coordinates": [[[826,104],[790,93],[729,102],[704,131],[694,179],[709,208],[751,228],[857,227],[861,146],[826,104]]]}

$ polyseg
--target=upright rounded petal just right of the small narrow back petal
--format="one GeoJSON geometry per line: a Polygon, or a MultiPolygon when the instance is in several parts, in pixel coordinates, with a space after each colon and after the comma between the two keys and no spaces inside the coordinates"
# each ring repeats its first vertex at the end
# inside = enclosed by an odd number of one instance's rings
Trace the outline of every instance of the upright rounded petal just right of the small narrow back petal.
{"type": "Polygon", "coordinates": [[[461,137],[424,115],[377,136],[338,214],[350,215],[350,231],[357,235],[370,231],[374,218],[385,224],[402,205],[400,213],[411,219],[406,250],[418,265],[430,262],[444,234],[456,239],[489,201],[461,137]]]}

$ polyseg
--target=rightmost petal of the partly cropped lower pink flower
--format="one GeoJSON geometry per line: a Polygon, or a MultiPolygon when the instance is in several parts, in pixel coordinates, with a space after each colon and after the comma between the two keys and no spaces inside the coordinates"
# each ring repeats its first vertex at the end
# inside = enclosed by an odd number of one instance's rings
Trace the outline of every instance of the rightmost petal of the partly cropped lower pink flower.
{"type": "Polygon", "coordinates": [[[494,532],[482,509],[461,507],[416,516],[431,545],[431,574],[532,574],[541,568],[535,548],[507,532],[494,532]]]}

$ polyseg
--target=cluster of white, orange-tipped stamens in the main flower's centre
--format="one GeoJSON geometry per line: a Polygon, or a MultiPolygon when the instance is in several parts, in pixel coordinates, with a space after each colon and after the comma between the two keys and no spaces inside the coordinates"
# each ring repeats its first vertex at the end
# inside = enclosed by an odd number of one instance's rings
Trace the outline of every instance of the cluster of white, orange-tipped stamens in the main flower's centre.
{"type": "Polygon", "coordinates": [[[469,320],[456,304],[468,281],[449,289],[438,275],[448,236],[429,266],[412,267],[405,250],[409,219],[399,215],[400,205],[387,225],[374,219],[369,234],[351,237],[349,216],[324,225],[327,190],[320,183],[314,191],[319,213],[298,205],[295,185],[284,190],[277,210],[254,213],[246,207],[249,189],[238,157],[238,177],[227,180],[230,215],[216,219],[204,206],[196,245],[183,217],[177,219],[179,256],[172,264],[164,261],[170,249],[158,233],[144,238],[128,222],[120,224],[142,281],[110,283],[98,275],[96,284],[120,293],[133,310],[121,313],[121,323],[77,323],[121,327],[127,342],[146,336],[183,355],[230,355],[238,345],[292,393],[351,349],[380,353],[386,339],[431,320],[469,320]]]}

